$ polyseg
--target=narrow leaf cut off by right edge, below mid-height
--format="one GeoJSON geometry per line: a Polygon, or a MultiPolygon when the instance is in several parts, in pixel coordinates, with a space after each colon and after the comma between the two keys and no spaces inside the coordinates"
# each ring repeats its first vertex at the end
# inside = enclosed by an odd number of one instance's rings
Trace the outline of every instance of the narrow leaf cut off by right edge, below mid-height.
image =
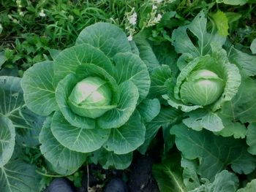
{"type": "Polygon", "coordinates": [[[246,143],[249,145],[249,153],[256,155],[256,123],[249,124],[246,132],[246,143]]]}

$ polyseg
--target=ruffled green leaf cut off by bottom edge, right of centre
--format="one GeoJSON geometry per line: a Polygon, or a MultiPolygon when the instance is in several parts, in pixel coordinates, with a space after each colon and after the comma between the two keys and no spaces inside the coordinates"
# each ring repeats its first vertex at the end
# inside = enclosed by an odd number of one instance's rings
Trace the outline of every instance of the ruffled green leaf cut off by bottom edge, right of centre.
{"type": "Polygon", "coordinates": [[[223,170],[216,174],[214,182],[201,185],[195,190],[189,192],[205,192],[205,191],[218,191],[218,192],[236,192],[239,185],[238,177],[236,174],[223,170]]]}

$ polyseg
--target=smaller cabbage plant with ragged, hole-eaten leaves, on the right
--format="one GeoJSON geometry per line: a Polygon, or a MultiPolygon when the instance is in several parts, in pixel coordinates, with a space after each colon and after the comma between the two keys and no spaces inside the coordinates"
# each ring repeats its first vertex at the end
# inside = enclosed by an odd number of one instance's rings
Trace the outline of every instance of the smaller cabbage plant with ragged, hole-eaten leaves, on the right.
{"type": "Polygon", "coordinates": [[[186,113],[183,123],[189,128],[216,132],[225,127],[218,112],[236,96],[241,74],[222,48],[226,38],[214,29],[208,32],[206,24],[201,11],[189,25],[173,31],[173,46],[181,54],[176,62],[179,72],[167,82],[162,97],[186,113]]]}

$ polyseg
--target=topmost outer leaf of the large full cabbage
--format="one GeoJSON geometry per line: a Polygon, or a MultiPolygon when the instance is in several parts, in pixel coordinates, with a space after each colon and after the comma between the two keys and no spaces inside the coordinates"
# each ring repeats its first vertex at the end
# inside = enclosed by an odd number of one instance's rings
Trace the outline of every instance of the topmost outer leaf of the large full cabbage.
{"type": "Polygon", "coordinates": [[[110,23],[95,23],[80,32],[76,45],[88,43],[112,58],[116,53],[132,52],[124,31],[110,23]]]}

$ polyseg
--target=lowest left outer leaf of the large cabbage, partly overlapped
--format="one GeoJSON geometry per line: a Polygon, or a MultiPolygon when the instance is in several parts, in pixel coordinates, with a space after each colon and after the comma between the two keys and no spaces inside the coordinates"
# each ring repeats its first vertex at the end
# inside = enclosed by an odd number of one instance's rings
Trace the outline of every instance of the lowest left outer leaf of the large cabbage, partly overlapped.
{"type": "MultiPolygon", "coordinates": [[[[61,166],[66,174],[72,174],[86,161],[86,154],[69,150],[61,145],[50,130],[51,122],[52,118],[48,117],[39,135],[41,153],[51,164],[61,166]]],[[[56,172],[61,174],[58,169],[56,172]]]]}

